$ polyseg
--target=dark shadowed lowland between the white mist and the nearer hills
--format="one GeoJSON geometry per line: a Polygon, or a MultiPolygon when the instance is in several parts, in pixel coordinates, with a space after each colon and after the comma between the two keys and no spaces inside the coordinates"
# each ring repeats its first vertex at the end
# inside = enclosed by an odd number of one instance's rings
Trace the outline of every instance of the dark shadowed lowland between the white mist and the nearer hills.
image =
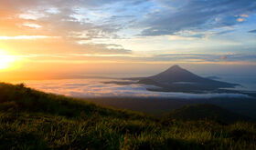
{"type": "Polygon", "coordinates": [[[86,98],[85,100],[100,105],[139,111],[155,116],[165,115],[186,105],[211,104],[256,120],[256,98],[217,97],[210,99],[178,99],[161,97],[97,97],[86,98]]]}

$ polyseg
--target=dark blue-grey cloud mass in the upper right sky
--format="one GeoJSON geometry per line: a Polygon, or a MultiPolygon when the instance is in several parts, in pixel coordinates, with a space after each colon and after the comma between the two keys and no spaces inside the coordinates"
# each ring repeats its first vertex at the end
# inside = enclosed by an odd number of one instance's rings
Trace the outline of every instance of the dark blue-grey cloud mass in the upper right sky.
{"type": "Polygon", "coordinates": [[[253,0],[164,1],[166,7],[174,3],[180,6],[151,13],[142,35],[174,35],[184,30],[207,31],[237,25],[256,8],[253,0]]]}

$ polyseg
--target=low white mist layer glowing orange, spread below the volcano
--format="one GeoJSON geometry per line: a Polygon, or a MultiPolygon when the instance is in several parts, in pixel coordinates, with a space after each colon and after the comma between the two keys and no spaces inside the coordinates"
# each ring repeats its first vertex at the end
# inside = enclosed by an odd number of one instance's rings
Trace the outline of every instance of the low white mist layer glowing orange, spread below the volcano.
{"type": "MultiPolygon", "coordinates": [[[[23,81],[28,87],[47,93],[68,95],[80,98],[93,97],[161,97],[199,99],[216,97],[248,97],[242,94],[189,94],[174,92],[152,92],[146,88],[157,88],[148,85],[115,85],[104,84],[108,79],[72,79],[72,80],[41,80],[23,81]]],[[[20,83],[20,82],[19,82],[20,83]]]]}

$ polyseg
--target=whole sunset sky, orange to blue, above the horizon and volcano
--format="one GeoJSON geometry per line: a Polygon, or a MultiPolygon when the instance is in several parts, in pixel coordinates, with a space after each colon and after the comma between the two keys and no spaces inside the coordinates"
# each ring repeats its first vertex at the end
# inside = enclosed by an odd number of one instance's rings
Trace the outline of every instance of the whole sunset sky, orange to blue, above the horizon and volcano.
{"type": "Polygon", "coordinates": [[[0,0],[0,76],[256,74],[255,0],[0,0]]]}

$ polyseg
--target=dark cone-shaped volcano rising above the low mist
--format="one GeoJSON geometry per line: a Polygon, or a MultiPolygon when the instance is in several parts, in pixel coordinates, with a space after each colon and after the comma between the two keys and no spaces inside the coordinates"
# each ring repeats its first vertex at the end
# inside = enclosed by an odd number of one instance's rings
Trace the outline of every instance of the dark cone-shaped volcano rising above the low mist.
{"type": "Polygon", "coordinates": [[[201,77],[178,65],[173,65],[160,74],[144,77],[138,83],[156,85],[162,87],[165,91],[179,92],[217,90],[219,88],[230,88],[238,85],[201,77]]]}

